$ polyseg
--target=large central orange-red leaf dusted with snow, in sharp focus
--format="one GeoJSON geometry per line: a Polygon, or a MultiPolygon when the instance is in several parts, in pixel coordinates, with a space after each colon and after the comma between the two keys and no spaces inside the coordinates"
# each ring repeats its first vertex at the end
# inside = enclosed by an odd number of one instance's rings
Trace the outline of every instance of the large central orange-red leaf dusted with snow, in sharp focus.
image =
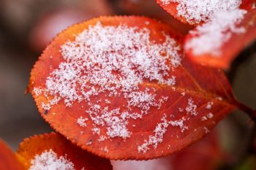
{"type": "Polygon", "coordinates": [[[182,41],[149,18],[89,20],[56,36],[28,91],[51,127],[84,150],[113,160],[163,157],[244,107],[221,70],[182,55],[182,41]]]}

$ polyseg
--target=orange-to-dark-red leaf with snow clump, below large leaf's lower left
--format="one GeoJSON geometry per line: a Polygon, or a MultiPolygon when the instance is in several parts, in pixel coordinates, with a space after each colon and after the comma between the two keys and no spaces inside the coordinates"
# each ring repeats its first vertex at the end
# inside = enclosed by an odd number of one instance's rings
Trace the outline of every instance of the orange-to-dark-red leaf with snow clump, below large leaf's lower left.
{"type": "Polygon", "coordinates": [[[26,169],[110,170],[110,161],[81,150],[60,134],[24,139],[16,152],[26,169]]]}

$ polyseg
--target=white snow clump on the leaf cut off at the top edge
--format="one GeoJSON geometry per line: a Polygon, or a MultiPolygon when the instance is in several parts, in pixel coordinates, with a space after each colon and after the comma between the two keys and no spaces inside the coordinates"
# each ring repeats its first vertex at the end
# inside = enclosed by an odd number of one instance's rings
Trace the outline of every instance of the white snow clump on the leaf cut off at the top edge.
{"type": "Polygon", "coordinates": [[[177,15],[183,17],[188,23],[207,22],[219,11],[238,9],[241,0],[160,0],[163,5],[170,2],[178,3],[177,15]]]}

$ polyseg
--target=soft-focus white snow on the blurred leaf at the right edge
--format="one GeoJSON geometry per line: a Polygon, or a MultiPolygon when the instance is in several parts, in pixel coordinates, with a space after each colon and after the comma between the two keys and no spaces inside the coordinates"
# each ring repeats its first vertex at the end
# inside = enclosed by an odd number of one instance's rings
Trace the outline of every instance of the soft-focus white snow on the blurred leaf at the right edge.
{"type": "Polygon", "coordinates": [[[208,23],[191,31],[194,36],[185,44],[185,50],[192,50],[194,55],[220,55],[222,45],[232,34],[244,33],[245,28],[237,26],[244,14],[246,11],[243,9],[217,12],[208,23]]]}

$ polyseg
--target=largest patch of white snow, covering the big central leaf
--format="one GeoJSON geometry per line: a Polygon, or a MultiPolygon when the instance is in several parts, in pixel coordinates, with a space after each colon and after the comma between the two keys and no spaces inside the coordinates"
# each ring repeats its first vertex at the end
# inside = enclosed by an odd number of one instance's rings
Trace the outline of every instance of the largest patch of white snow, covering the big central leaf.
{"type": "MultiPolygon", "coordinates": [[[[176,84],[173,69],[181,65],[180,47],[175,39],[163,33],[165,39],[155,43],[150,34],[148,28],[121,24],[102,26],[98,22],[89,26],[75,41],[61,46],[64,61],[47,77],[46,88],[34,88],[36,95],[42,93],[48,99],[42,108],[49,110],[60,101],[67,107],[74,102],[86,102],[90,107],[84,111],[93,123],[94,134],[99,135],[97,129],[104,127],[107,135],[104,139],[128,138],[129,119],[142,118],[151,108],[159,109],[167,101],[167,96],[157,96],[154,88],[140,90],[140,83],[154,81],[173,86],[176,84]],[[99,98],[101,93],[107,93],[108,99],[99,98]],[[116,97],[126,99],[127,104],[113,108],[110,101],[116,97]],[[101,104],[104,101],[111,109],[101,104]],[[132,107],[141,112],[132,112],[132,107]]],[[[86,126],[83,117],[77,122],[86,126]]]]}

